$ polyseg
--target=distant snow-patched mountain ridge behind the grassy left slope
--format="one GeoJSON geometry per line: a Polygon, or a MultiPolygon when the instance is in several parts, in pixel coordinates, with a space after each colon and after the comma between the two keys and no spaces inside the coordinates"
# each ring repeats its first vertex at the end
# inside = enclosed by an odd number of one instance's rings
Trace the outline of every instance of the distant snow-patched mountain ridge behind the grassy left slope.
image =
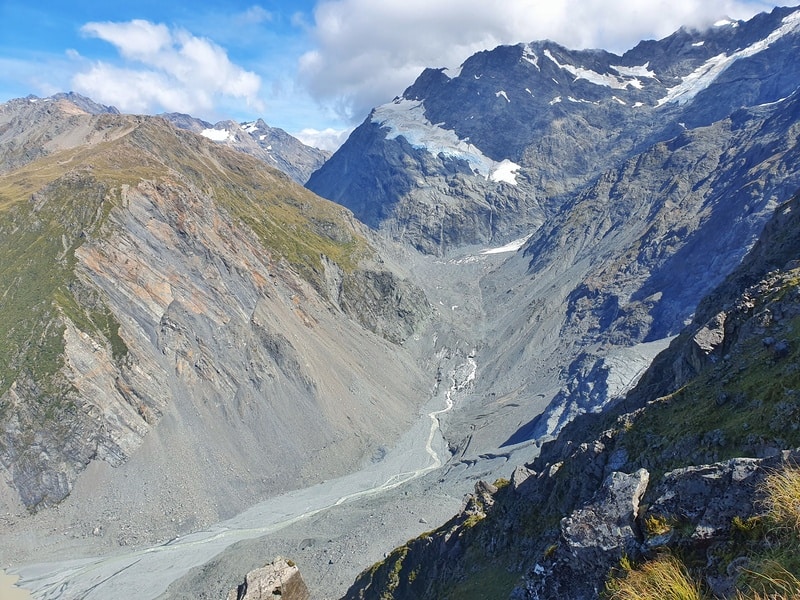
{"type": "Polygon", "coordinates": [[[306,146],[283,129],[270,127],[262,119],[252,123],[220,121],[212,125],[180,113],[161,115],[181,129],[188,129],[210,140],[225,144],[264,161],[303,185],[319,169],[330,153],[306,146]]]}

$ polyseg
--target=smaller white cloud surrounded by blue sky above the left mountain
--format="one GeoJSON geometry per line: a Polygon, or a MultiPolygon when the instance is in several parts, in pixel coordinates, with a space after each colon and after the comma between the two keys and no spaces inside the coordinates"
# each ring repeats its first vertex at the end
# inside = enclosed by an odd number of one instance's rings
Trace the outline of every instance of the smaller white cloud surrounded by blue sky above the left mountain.
{"type": "MultiPolygon", "coordinates": [[[[263,15],[262,15],[263,16],[263,15]]],[[[82,32],[114,45],[124,66],[94,63],[73,77],[76,91],[123,112],[209,113],[236,100],[261,110],[261,79],[208,39],[143,20],[87,23],[82,32]]]]}

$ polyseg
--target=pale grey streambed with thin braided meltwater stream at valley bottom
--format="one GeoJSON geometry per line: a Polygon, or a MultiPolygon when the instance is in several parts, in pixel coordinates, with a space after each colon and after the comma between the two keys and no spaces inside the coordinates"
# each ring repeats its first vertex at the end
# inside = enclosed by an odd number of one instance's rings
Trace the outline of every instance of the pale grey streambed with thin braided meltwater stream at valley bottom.
{"type": "Polygon", "coordinates": [[[112,556],[25,565],[11,571],[18,585],[34,598],[86,600],[157,598],[194,567],[201,566],[230,545],[288,527],[334,506],[398,488],[439,469],[446,453],[439,417],[453,408],[451,389],[434,397],[428,409],[398,444],[377,463],[361,471],[269,498],[217,525],[179,537],[160,546],[112,556]]]}

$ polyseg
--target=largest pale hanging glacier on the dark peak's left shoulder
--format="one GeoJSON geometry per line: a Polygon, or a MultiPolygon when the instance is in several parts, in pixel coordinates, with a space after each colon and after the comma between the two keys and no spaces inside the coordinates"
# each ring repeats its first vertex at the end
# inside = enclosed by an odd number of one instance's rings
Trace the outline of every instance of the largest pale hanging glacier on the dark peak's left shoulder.
{"type": "Polygon", "coordinates": [[[372,122],[387,130],[387,140],[403,136],[414,148],[467,162],[486,179],[517,183],[516,171],[521,168],[518,164],[510,160],[494,161],[454,131],[434,125],[425,117],[425,109],[418,100],[400,98],[379,106],[372,113],[372,122]]]}

